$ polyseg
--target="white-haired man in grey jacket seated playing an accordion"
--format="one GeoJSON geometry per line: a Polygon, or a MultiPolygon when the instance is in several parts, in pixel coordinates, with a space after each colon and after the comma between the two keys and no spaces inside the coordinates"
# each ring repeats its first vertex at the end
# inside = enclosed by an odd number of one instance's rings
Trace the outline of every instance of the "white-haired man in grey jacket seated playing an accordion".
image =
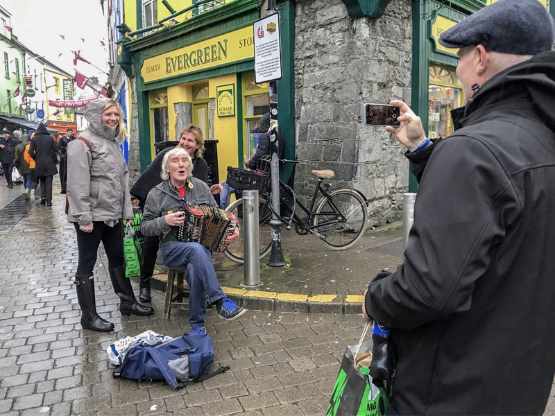
{"type": "MultiPolygon", "coordinates": [[[[186,268],[189,285],[189,323],[193,332],[206,332],[206,301],[216,306],[220,318],[231,321],[245,313],[223,293],[212,264],[212,254],[200,243],[178,239],[178,229],[185,223],[187,205],[217,207],[208,185],[191,175],[193,165],[187,150],[171,148],[164,155],[163,182],[148,193],[141,223],[145,236],[157,236],[164,265],[186,268]]],[[[239,228],[225,237],[230,244],[239,239],[239,228]]]]}

